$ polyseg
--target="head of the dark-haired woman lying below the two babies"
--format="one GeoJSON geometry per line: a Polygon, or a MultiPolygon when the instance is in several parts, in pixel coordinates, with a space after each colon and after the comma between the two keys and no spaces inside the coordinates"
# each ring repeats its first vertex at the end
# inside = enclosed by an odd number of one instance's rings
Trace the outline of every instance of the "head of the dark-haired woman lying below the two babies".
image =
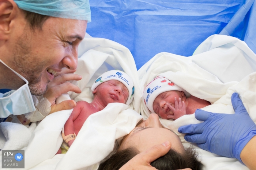
{"type": "Polygon", "coordinates": [[[199,169],[200,162],[196,160],[195,150],[192,147],[184,149],[180,138],[172,130],[163,128],[158,115],[150,114],[147,120],[139,123],[123,138],[117,152],[110,154],[98,170],[118,170],[135,155],[165,141],[170,141],[172,148],[166,155],[151,162],[152,166],[159,170],[199,169]]]}

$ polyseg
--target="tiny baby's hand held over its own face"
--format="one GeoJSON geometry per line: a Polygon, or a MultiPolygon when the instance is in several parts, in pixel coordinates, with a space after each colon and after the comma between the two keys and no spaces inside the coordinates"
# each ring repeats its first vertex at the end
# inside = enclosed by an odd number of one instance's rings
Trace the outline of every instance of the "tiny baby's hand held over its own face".
{"type": "Polygon", "coordinates": [[[177,98],[174,98],[175,108],[172,107],[172,105],[170,105],[169,103],[166,103],[166,104],[174,114],[174,115],[168,115],[167,118],[176,120],[179,117],[186,114],[185,102],[181,101],[181,98],[179,98],[179,101],[177,100],[177,98]]]}

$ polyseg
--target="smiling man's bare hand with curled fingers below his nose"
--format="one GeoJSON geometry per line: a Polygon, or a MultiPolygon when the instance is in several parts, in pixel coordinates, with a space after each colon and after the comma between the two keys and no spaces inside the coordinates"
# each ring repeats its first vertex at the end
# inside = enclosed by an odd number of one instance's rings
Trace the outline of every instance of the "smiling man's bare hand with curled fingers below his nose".
{"type": "Polygon", "coordinates": [[[80,75],[68,73],[68,74],[60,74],[54,77],[54,79],[50,83],[48,83],[48,88],[44,94],[44,97],[47,98],[50,104],[52,105],[50,114],[60,110],[72,109],[76,106],[76,102],[74,100],[65,100],[59,104],[56,104],[55,100],[61,94],[67,93],[68,91],[80,93],[81,90],[77,86],[67,81],[81,80],[81,79],[82,79],[82,76],[80,75]]]}

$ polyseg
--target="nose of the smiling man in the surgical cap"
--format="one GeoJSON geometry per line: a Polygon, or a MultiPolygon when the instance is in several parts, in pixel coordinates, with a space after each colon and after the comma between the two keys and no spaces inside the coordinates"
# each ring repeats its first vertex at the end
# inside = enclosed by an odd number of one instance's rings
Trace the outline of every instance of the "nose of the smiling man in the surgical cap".
{"type": "Polygon", "coordinates": [[[61,62],[63,64],[63,67],[66,67],[69,70],[75,70],[77,68],[77,62],[78,62],[77,48],[67,51],[66,56],[62,59],[61,62]]]}

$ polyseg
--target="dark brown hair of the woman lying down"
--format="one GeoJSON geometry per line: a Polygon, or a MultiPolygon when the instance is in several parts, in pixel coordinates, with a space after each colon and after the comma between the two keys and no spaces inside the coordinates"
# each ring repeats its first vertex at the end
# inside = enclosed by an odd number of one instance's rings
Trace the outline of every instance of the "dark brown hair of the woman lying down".
{"type": "MultiPolygon", "coordinates": [[[[98,170],[118,170],[130,159],[139,154],[135,148],[127,148],[110,154],[99,165],[98,170]]],[[[185,153],[181,154],[170,149],[167,154],[151,162],[151,166],[158,170],[177,170],[191,168],[199,170],[201,163],[197,161],[197,152],[193,147],[185,148],[185,153]]]]}

